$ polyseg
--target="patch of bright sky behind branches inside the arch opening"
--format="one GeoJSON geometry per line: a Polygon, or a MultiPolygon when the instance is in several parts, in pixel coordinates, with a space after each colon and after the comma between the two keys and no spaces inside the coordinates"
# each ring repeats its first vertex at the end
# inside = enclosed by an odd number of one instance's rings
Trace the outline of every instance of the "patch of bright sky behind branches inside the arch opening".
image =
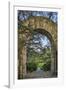
{"type": "Polygon", "coordinates": [[[34,35],[32,43],[29,44],[29,47],[37,53],[42,53],[45,48],[51,47],[50,40],[43,34],[37,33],[36,35],[34,35]]]}

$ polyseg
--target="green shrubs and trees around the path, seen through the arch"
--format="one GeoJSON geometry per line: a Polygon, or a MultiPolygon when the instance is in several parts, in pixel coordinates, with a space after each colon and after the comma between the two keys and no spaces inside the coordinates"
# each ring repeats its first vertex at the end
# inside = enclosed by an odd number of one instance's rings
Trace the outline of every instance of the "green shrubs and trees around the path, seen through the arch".
{"type": "Polygon", "coordinates": [[[29,49],[27,70],[32,72],[35,71],[38,67],[44,71],[49,71],[51,69],[50,49],[47,48],[45,53],[42,54],[36,53],[34,50],[29,49]]]}

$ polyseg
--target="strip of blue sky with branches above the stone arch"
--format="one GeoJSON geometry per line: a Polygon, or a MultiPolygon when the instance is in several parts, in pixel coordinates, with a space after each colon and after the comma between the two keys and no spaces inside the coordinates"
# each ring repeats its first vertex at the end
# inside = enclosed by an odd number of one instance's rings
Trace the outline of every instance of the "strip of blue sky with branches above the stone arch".
{"type": "Polygon", "coordinates": [[[54,21],[55,23],[57,23],[57,19],[58,19],[58,12],[18,10],[18,16],[20,17],[21,20],[27,19],[30,15],[32,15],[32,16],[44,16],[47,18],[49,18],[51,16],[50,19],[52,21],[54,21]]]}

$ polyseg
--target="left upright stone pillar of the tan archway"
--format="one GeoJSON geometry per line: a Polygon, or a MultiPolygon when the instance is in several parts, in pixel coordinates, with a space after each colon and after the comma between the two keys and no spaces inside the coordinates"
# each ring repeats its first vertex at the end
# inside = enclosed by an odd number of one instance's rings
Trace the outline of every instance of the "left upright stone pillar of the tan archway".
{"type": "Polygon", "coordinates": [[[27,48],[25,42],[26,42],[26,35],[19,34],[18,79],[22,79],[26,76],[27,48]]]}

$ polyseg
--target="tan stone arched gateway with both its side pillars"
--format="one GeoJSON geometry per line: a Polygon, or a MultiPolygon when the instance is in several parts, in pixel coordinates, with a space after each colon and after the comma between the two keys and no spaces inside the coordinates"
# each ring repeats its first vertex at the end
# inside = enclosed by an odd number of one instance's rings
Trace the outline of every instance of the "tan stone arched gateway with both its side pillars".
{"type": "Polygon", "coordinates": [[[27,74],[27,47],[31,33],[37,31],[46,35],[52,47],[51,75],[57,76],[57,24],[46,17],[30,17],[19,22],[21,29],[18,30],[18,78],[24,78],[27,74]]]}

